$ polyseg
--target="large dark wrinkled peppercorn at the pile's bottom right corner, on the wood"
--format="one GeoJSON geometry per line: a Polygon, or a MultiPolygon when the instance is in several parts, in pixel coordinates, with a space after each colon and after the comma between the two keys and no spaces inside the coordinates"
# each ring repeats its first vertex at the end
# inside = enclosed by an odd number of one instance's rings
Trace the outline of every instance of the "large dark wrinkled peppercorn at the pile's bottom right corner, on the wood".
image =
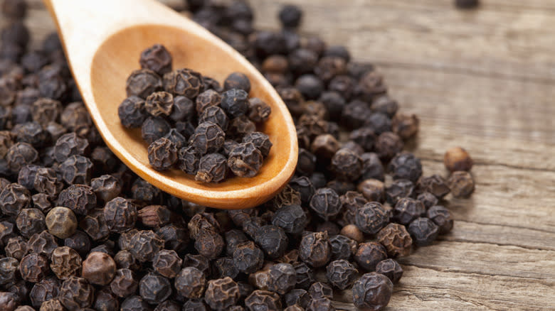
{"type": "Polygon", "coordinates": [[[352,290],[355,307],[361,310],[382,310],[391,299],[393,283],[385,275],[371,272],[356,280],[352,290]]]}

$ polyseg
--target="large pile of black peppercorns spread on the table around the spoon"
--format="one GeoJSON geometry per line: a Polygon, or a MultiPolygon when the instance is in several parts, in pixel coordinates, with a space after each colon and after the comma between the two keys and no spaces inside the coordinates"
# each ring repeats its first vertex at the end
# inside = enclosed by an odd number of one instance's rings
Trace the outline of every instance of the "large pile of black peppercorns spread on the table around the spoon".
{"type": "MultiPolygon", "coordinates": [[[[189,0],[193,18],[260,67],[292,112],[297,173],[254,209],[209,209],[161,192],[105,146],[56,35],[27,50],[23,0],[5,0],[0,45],[0,310],[361,310],[388,304],[395,258],[453,227],[472,160],[447,180],[403,152],[418,131],[374,67],[300,38],[302,13],[254,31],[243,2],[189,0]],[[342,139],[339,139],[341,133],[342,139]]],[[[205,80],[206,82],[206,80],[205,80]]]]}

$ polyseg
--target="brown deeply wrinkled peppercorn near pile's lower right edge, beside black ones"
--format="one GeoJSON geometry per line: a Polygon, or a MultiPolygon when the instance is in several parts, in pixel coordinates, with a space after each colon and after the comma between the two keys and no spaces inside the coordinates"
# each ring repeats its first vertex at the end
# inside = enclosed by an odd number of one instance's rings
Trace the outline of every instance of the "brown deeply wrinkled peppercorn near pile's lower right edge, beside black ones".
{"type": "Polygon", "coordinates": [[[402,224],[388,224],[378,232],[376,238],[386,246],[390,257],[408,256],[411,253],[413,239],[402,224]]]}

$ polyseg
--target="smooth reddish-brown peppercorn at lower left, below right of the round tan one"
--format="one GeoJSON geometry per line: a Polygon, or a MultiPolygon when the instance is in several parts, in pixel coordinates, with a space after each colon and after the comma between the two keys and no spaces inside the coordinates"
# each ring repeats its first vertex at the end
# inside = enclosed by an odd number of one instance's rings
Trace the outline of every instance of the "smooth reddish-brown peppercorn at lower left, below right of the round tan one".
{"type": "Polygon", "coordinates": [[[114,259],[107,253],[99,251],[91,252],[83,261],[81,275],[90,283],[97,285],[108,285],[114,278],[116,264],[114,259]]]}

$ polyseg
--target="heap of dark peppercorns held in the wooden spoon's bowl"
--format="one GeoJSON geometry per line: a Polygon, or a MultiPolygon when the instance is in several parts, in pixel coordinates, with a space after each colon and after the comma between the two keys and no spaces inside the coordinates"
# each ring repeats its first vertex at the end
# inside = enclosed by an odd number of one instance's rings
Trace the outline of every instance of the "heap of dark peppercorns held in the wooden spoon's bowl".
{"type": "Polygon", "coordinates": [[[243,73],[231,73],[221,87],[191,69],[171,71],[171,62],[163,45],[144,50],[142,69],[127,78],[127,98],[118,107],[123,126],[141,128],[150,165],[177,166],[200,182],[221,182],[228,168],[254,177],[272,148],[268,135],[256,131],[270,106],[248,98],[250,80],[243,73]]]}

